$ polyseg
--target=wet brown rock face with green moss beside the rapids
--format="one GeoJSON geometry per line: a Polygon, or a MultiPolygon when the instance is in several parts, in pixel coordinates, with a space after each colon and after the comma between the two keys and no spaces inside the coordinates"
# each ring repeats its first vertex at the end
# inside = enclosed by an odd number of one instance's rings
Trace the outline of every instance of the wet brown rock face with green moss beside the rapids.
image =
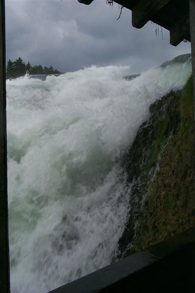
{"type": "Polygon", "coordinates": [[[120,256],[195,225],[195,131],[192,78],[150,107],[124,158],[132,183],[120,256]]]}

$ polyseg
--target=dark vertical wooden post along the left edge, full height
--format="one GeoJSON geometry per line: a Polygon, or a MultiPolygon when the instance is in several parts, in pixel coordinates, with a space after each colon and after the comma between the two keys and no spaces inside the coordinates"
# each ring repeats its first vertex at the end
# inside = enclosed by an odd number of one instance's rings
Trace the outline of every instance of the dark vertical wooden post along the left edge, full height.
{"type": "Polygon", "coordinates": [[[10,292],[7,204],[7,134],[4,0],[0,0],[0,292],[10,292]]]}

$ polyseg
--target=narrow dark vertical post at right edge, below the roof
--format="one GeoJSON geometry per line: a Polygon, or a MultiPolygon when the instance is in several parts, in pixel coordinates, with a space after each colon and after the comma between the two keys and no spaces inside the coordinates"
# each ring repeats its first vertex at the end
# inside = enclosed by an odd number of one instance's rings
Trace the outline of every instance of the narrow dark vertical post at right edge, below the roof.
{"type": "Polygon", "coordinates": [[[189,0],[190,10],[190,37],[192,48],[192,72],[194,84],[194,120],[195,120],[195,0],[189,0]]]}

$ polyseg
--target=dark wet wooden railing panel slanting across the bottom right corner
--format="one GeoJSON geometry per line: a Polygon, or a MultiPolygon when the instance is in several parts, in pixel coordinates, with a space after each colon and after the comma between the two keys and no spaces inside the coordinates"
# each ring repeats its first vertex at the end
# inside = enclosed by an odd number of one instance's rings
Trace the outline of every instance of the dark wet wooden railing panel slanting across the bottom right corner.
{"type": "Polygon", "coordinates": [[[195,228],[50,293],[194,292],[194,263],[195,228]]]}

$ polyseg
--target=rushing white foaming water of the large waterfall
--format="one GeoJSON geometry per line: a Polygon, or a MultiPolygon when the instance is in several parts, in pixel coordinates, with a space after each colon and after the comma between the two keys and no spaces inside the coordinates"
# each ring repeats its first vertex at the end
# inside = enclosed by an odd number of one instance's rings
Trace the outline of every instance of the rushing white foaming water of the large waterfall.
{"type": "Polygon", "coordinates": [[[182,87],[191,63],[126,81],[92,66],[7,82],[12,293],[52,290],[111,263],[128,214],[120,158],[149,105],[182,87]]]}

